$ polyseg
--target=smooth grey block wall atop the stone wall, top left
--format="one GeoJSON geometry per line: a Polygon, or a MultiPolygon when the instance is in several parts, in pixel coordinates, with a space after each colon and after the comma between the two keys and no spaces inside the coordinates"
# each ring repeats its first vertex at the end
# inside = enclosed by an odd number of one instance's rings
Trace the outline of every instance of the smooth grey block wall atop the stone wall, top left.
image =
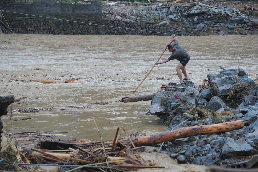
{"type": "MultiPolygon", "coordinates": [[[[0,9],[31,15],[47,17],[80,16],[88,18],[101,18],[101,0],[92,0],[91,4],[66,4],[56,3],[55,0],[36,0],[35,3],[0,3],[0,9]]],[[[21,16],[14,13],[4,13],[4,16],[21,16]]],[[[28,16],[30,17],[30,16],[28,16]]]]}

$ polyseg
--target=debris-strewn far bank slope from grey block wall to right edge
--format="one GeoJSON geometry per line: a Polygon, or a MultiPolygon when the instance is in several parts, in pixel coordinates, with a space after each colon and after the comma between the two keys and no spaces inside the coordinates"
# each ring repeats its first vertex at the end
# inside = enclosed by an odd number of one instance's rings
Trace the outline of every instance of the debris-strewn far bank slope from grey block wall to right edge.
{"type": "Polygon", "coordinates": [[[257,14],[255,12],[252,14],[244,6],[243,4],[243,8],[237,9],[214,1],[166,2],[141,8],[136,6],[136,9],[131,9],[131,11],[128,7],[103,7],[102,13],[106,18],[140,20],[142,22],[140,25],[134,23],[138,30],[151,29],[153,32],[178,35],[244,35],[250,32],[257,34],[257,23],[249,18],[257,14]],[[146,27],[148,20],[156,23],[158,27],[146,27]]]}

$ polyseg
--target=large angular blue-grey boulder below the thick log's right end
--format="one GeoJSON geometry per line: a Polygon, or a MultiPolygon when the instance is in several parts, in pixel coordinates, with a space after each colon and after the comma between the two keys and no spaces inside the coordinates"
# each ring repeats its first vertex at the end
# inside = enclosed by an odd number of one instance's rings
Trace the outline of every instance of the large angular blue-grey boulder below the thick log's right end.
{"type": "Polygon", "coordinates": [[[240,138],[236,141],[227,137],[225,144],[222,147],[222,155],[226,158],[231,158],[239,155],[252,155],[257,152],[250,144],[244,139],[240,138]]]}

